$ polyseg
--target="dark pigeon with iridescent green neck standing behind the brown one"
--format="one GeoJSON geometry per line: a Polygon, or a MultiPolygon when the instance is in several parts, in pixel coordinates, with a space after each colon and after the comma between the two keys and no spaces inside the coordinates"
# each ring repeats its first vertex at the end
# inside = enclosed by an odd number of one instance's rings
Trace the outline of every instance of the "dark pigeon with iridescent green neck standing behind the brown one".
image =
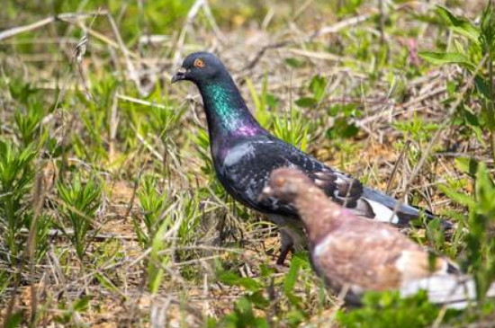
{"type": "MultiPolygon", "coordinates": [[[[223,187],[240,203],[259,212],[281,227],[284,258],[293,246],[304,244],[302,223],[293,204],[276,198],[258,199],[270,173],[278,167],[298,168],[330,199],[361,217],[407,226],[420,216],[418,208],[393,208],[398,200],[367,188],[346,173],[338,172],[296,147],[274,137],[261,127],[220,59],[208,52],[196,52],[184,59],[172,83],[187,80],[198,87],[208,121],[211,157],[223,187]]],[[[427,217],[433,217],[426,213],[427,217]]]]}

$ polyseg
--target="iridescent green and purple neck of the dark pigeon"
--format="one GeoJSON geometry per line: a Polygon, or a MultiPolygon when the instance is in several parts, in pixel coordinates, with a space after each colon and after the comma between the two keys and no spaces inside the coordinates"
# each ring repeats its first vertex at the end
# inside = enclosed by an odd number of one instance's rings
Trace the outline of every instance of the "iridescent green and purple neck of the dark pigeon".
{"type": "Polygon", "coordinates": [[[257,120],[247,109],[230,76],[198,84],[211,137],[215,135],[256,135],[263,133],[257,120]]]}

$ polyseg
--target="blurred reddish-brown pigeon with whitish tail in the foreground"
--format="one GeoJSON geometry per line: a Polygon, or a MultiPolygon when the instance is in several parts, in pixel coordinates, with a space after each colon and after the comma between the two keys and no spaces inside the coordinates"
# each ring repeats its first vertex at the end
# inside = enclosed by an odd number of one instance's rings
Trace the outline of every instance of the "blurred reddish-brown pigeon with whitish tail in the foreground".
{"type": "MultiPolygon", "coordinates": [[[[392,226],[357,217],[329,198],[304,173],[275,170],[260,198],[293,203],[306,228],[314,269],[346,301],[358,305],[368,290],[428,292],[432,303],[461,308],[476,298],[471,276],[446,257],[435,256],[392,226]]],[[[488,292],[495,296],[495,286],[488,292]]]]}

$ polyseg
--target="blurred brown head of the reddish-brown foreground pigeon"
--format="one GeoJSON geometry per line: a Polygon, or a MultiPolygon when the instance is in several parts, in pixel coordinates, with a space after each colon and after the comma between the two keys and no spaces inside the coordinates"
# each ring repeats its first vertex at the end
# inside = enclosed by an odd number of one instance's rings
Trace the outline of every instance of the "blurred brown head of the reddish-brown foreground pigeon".
{"type": "Polygon", "coordinates": [[[275,197],[284,202],[293,202],[298,195],[311,188],[311,185],[311,179],[299,170],[276,169],[270,174],[270,180],[261,192],[260,199],[275,197]]]}

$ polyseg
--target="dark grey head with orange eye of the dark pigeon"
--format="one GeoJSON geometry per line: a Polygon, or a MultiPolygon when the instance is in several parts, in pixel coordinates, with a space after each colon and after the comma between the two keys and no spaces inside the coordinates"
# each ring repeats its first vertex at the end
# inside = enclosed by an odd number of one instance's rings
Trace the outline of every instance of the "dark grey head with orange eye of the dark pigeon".
{"type": "Polygon", "coordinates": [[[172,76],[172,83],[187,80],[195,84],[221,75],[225,67],[220,59],[210,52],[193,52],[184,59],[182,67],[172,76]]]}

